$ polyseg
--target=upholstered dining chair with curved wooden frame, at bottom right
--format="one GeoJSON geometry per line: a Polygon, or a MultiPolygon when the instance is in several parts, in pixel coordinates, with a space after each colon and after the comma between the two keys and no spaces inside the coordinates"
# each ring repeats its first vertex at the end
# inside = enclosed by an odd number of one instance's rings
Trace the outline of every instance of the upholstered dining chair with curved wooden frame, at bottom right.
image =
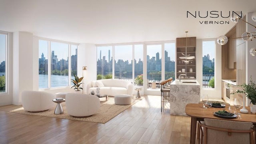
{"type": "Polygon", "coordinates": [[[205,118],[198,122],[200,139],[198,144],[254,144],[252,122],[235,122],[205,118]]]}

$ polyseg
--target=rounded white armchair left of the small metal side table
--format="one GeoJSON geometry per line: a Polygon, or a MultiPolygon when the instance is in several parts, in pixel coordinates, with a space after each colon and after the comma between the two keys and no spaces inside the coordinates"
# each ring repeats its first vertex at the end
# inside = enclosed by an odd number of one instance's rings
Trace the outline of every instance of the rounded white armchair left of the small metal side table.
{"type": "Polygon", "coordinates": [[[48,92],[25,90],[21,93],[21,102],[24,110],[28,112],[43,112],[56,106],[52,100],[54,94],[48,92]]]}

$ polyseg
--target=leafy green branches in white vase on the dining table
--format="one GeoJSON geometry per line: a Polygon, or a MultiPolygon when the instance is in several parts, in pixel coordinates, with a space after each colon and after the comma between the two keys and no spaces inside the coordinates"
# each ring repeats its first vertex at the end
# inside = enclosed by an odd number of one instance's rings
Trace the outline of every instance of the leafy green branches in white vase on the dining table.
{"type": "Polygon", "coordinates": [[[242,84],[240,86],[242,90],[237,90],[236,93],[244,93],[246,97],[251,100],[250,104],[253,104],[251,107],[251,112],[256,112],[256,84],[252,80],[252,76],[250,76],[250,83],[249,84],[242,84]]]}

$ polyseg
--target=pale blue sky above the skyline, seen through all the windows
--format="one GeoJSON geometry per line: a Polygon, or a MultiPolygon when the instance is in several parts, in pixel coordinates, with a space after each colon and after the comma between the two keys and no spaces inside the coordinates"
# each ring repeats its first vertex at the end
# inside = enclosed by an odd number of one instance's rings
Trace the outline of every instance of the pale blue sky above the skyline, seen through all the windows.
{"type": "MultiPolygon", "coordinates": [[[[210,59],[215,57],[215,50],[214,50],[214,41],[204,41],[203,42],[203,56],[209,54],[210,59]]],[[[73,45],[72,45],[73,46],[73,45]]],[[[162,57],[161,54],[161,45],[148,45],[147,46],[147,55],[152,58],[156,56],[156,53],[159,52],[160,58],[162,57]]],[[[98,47],[99,49],[99,47],[98,47]]],[[[112,54],[112,46],[104,46],[100,48],[102,50],[102,57],[106,54],[106,60],[108,60],[108,50],[111,49],[110,54],[112,54]]],[[[54,54],[57,55],[58,60],[62,58],[67,60],[68,58],[68,44],[62,44],[57,42],[52,42],[52,50],[54,50],[54,54]],[[63,52],[66,51],[66,52],[63,52]]],[[[175,42],[165,44],[165,50],[168,52],[168,57],[171,60],[175,60],[175,42]]],[[[135,58],[138,62],[139,58],[143,60],[143,45],[137,44],[135,45],[135,58]]],[[[116,52],[118,55],[115,56],[116,60],[132,60],[132,45],[127,46],[116,46],[116,52]],[[128,50],[126,50],[128,49],[128,50]]],[[[41,58],[42,53],[44,53],[44,57],[48,57],[48,41],[40,40],[39,41],[39,58],[41,58]]],[[[74,55],[75,51],[72,48],[72,54],[74,55]]],[[[97,53],[97,58],[100,58],[100,52],[97,53]]],[[[202,57],[203,57],[202,56],[202,57]]],[[[4,61],[5,59],[5,35],[0,34],[0,62],[4,61]]],[[[110,58],[111,59],[111,58],[110,58]]]]}

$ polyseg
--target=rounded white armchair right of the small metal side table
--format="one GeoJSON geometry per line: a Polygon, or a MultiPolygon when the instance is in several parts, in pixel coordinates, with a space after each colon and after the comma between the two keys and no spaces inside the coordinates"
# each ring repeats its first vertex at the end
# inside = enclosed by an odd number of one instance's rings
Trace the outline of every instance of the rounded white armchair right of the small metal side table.
{"type": "Polygon", "coordinates": [[[100,110],[100,98],[91,94],[66,94],[66,110],[76,118],[88,117],[100,110]]]}

